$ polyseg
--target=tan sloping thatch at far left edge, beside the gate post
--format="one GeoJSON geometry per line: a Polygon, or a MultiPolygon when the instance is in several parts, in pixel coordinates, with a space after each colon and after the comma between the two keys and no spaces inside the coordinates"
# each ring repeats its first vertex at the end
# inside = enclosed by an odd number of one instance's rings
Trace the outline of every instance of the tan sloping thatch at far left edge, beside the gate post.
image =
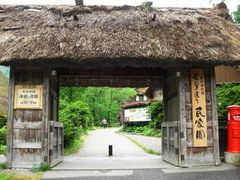
{"type": "Polygon", "coordinates": [[[7,115],[8,79],[0,71],[0,114],[7,115]]]}

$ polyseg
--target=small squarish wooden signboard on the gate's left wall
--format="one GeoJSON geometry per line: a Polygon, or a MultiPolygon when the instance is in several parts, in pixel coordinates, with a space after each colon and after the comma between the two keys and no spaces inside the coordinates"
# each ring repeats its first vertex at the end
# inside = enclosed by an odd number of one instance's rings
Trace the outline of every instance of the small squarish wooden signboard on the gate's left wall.
{"type": "Polygon", "coordinates": [[[42,109],[42,85],[15,85],[14,109],[42,109]]]}

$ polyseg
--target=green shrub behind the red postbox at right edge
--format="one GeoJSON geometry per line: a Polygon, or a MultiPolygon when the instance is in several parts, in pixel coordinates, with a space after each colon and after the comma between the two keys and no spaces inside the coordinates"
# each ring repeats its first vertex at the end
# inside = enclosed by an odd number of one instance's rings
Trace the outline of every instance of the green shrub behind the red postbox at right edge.
{"type": "Polygon", "coordinates": [[[218,116],[226,118],[227,106],[240,105],[240,85],[235,83],[222,83],[217,87],[217,101],[218,116]]]}

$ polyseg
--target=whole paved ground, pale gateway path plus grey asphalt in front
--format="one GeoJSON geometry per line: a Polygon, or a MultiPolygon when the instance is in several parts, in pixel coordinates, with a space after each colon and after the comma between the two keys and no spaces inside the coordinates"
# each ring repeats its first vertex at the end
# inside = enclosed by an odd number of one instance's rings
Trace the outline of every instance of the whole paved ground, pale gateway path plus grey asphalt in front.
{"type": "Polygon", "coordinates": [[[201,168],[174,167],[163,162],[160,156],[145,153],[127,137],[115,133],[117,130],[111,128],[90,132],[78,153],[66,156],[63,163],[46,172],[42,179],[240,179],[239,168],[227,164],[201,168]],[[113,145],[112,157],[108,157],[110,144],[113,145]]]}

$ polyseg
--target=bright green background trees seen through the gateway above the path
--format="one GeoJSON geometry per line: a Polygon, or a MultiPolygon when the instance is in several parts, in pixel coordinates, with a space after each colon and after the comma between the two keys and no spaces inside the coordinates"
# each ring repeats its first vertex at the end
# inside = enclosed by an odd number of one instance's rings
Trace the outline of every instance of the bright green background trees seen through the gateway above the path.
{"type": "Polygon", "coordinates": [[[120,103],[135,94],[135,90],[131,88],[62,88],[60,105],[63,109],[68,103],[81,100],[87,104],[92,113],[91,126],[100,126],[103,118],[107,119],[109,126],[115,126],[120,103]]]}

